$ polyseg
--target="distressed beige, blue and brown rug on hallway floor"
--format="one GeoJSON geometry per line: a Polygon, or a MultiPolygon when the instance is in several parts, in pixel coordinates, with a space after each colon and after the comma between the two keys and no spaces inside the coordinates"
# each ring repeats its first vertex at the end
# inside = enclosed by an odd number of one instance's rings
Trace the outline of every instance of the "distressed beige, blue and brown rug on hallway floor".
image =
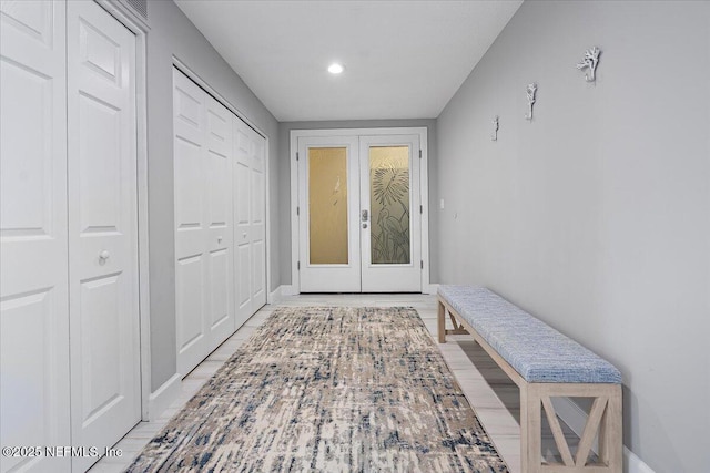
{"type": "Polygon", "coordinates": [[[507,472],[410,308],[278,308],[132,472],[507,472]]]}

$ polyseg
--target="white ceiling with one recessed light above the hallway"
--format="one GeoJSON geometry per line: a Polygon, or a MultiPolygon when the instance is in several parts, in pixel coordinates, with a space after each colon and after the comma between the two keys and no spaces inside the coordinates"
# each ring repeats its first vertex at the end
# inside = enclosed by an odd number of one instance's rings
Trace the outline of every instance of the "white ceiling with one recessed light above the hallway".
{"type": "Polygon", "coordinates": [[[438,116],[523,0],[175,3],[291,122],[438,116]]]}

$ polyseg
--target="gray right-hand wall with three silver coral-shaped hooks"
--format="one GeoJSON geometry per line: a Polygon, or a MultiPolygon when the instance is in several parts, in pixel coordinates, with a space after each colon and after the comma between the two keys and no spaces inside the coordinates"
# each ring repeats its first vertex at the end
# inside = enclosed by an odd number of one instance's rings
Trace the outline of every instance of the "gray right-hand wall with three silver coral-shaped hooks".
{"type": "Polygon", "coordinates": [[[709,35],[709,2],[526,1],[437,122],[442,282],[617,364],[625,444],[658,472],[710,467],[709,35]]]}

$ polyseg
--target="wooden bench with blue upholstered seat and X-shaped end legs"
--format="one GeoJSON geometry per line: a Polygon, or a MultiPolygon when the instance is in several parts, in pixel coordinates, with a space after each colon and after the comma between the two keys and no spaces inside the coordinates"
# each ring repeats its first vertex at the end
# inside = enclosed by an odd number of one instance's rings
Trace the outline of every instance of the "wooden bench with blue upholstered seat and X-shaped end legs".
{"type": "Polygon", "coordinates": [[[520,389],[520,461],[529,472],[621,472],[621,373],[541,320],[481,287],[439,286],[438,339],[469,333],[520,389]],[[454,329],[446,328],[448,312],[454,329]],[[592,398],[575,457],[551,398],[592,398]],[[562,463],[544,463],[542,410],[562,463]],[[597,461],[590,462],[598,434],[597,461]]]}

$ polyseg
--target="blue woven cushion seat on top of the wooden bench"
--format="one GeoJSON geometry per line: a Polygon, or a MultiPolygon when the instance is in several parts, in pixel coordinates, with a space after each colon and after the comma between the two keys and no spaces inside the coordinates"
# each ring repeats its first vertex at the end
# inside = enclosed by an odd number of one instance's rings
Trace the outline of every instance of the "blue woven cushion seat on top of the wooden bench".
{"type": "Polygon", "coordinates": [[[527,382],[621,383],[611,363],[489,289],[439,286],[438,294],[527,382]]]}

